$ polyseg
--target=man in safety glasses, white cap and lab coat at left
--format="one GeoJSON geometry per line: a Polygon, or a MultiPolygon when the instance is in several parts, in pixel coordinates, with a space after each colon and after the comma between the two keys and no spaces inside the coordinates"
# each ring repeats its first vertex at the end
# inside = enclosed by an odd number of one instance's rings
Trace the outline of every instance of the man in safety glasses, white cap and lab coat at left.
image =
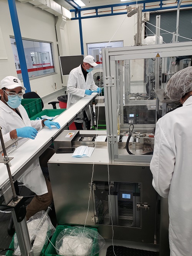
{"type": "MultiPolygon", "coordinates": [[[[4,142],[18,138],[18,145],[22,145],[30,138],[35,139],[42,126],[51,125],[60,128],[59,123],[49,120],[30,121],[25,108],[21,105],[23,96],[21,81],[14,76],[7,76],[0,82],[0,126],[4,142]]],[[[26,220],[41,210],[46,210],[53,201],[51,184],[45,179],[40,168],[39,160],[36,160],[18,179],[27,188],[36,193],[31,203],[26,208],[26,220]]]]}

